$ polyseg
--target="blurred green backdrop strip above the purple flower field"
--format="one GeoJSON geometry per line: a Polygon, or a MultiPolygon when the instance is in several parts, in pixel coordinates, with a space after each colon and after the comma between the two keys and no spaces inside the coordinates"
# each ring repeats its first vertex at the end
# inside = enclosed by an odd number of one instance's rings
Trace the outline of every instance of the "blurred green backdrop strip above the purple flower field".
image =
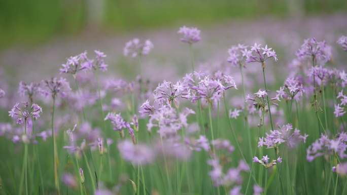
{"type": "Polygon", "coordinates": [[[0,49],[90,30],[126,33],[179,22],[208,25],[236,18],[346,11],[346,0],[2,0],[0,49]]]}

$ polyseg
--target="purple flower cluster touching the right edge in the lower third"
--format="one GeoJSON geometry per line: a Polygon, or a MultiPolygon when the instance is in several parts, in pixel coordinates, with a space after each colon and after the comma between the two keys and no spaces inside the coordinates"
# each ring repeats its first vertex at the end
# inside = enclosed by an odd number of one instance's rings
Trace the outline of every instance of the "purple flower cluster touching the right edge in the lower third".
{"type": "Polygon", "coordinates": [[[347,157],[347,154],[345,154],[346,144],[347,134],[344,132],[338,134],[335,139],[329,139],[327,135],[322,135],[307,148],[306,159],[311,162],[317,157],[328,157],[334,152],[338,154],[339,158],[344,159],[347,157]]]}

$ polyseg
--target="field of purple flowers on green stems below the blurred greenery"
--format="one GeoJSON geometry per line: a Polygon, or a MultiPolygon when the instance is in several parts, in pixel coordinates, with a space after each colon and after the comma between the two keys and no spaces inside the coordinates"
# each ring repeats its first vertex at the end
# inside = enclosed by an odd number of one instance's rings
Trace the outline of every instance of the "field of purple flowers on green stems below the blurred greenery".
{"type": "Polygon", "coordinates": [[[0,67],[0,194],[347,194],[345,19],[0,67]]]}

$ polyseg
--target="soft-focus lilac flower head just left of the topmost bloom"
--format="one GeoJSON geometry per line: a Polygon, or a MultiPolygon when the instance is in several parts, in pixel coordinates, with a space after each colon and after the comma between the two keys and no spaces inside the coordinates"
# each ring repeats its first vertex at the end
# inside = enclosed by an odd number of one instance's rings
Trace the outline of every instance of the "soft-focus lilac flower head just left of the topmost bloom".
{"type": "Polygon", "coordinates": [[[153,44],[150,40],[141,43],[138,38],[134,38],[125,44],[123,49],[124,56],[135,58],[137,56],[148,55],[153,49],[153,44]]]}

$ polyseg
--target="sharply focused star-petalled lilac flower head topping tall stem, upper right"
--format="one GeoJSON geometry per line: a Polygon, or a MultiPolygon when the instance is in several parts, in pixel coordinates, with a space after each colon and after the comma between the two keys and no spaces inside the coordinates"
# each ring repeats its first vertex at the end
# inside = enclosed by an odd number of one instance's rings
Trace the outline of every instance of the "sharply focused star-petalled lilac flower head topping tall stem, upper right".
{"type": "Polygon", "coordinates": [[[269,58],[273,58],[275,61],[278,60],[276,52],[272,48],[268,48],[267,45],[261,47],[261,44],[257,43],[251,47],[251,51],[244,51],[244,54],[246,56],[246,62],[264,63],[269,58]]]}

